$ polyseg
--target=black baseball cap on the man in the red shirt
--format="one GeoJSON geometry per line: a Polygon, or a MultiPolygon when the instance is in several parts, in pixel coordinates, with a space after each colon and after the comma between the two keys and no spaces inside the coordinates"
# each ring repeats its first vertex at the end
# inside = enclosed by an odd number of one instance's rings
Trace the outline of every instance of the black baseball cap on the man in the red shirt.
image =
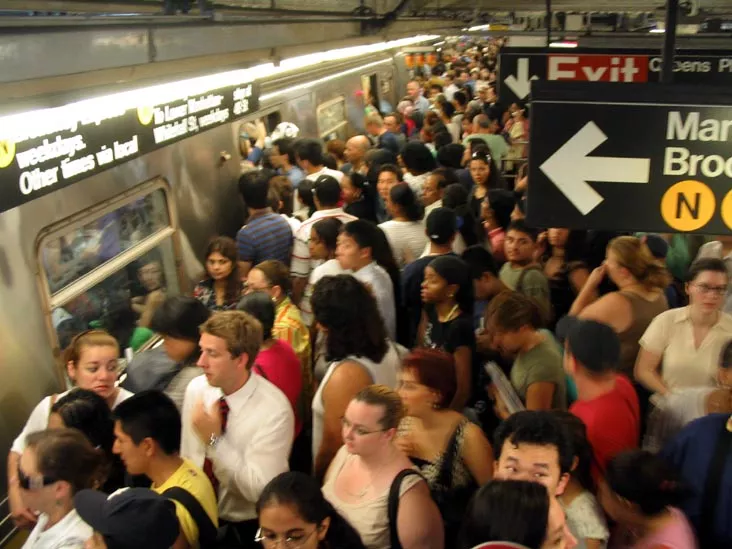
{"type": "Polygon", "coordinates": [[[557,336],[577,362],[591,372],[602,374],[617,369],[620,339],[607,324],[567,315],[557,324],[557,336]]]}

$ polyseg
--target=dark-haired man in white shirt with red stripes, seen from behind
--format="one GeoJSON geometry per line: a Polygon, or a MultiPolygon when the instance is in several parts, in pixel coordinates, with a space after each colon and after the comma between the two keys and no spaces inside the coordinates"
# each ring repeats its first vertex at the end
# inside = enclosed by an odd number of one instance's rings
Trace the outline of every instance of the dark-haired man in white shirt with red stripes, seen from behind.
{"type": "Polygon", "coordinates": [[[310,231],[313,225],[328,217],[336,217],[343,223],[356,219],[338,207],[341,199],[341,186],[334,177],[329,175],[318,177],[315,180],[313,196],[317,211],[300,225],[295,233],[295,243],[292,248],[290,275],[292,276],[292,296],[295,303],[300,303],[310,277],[310,271],[317,266],[317,263],[310,259],[310,231]]]}

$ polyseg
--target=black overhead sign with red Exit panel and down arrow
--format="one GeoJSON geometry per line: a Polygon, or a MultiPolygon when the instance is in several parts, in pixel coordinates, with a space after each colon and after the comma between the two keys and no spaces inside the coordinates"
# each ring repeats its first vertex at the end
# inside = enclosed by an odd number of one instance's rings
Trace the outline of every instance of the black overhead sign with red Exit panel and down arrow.
{"type": "MultiPolygon", "coordinates": [[[[651,49],[505,48],[499,55],[498,96],[506,105],[529,96],[534,80],[659,82],[662,58],[651,49]]],[[[679,50],[674,82],[732,86],[732,53],[679,50]]]]}

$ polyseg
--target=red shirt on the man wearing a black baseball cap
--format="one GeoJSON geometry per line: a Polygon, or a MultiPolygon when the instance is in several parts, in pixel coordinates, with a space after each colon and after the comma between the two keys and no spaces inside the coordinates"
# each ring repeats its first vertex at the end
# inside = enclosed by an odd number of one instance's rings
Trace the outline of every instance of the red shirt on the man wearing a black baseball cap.
{"type": "Polygon", "coordinates": [[[587,427],[587,440],[595,456],[592,467],[594,476],[604,473],[608,461],[616,454],[638,447],[638,395],[625,376],[615,376],[612,391],[592,400],[578,400],[569,411],[587,427]]]}

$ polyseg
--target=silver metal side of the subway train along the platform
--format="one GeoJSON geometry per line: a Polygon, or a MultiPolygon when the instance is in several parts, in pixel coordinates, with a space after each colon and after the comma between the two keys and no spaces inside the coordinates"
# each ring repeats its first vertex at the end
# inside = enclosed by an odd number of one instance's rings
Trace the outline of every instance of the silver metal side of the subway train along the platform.
{"type": "MultiPolygon", "coordinates": [[[[94,288],[116,284],[110,273],[129,271],[129,266],[148,249],[156,249],[162,258],[169,292],[190,291],[203,272],[201,256],[207,241],[216,234],[233,236],[241,226],[243,203],[236,182],[240,175],[242,123],[262,117],[269,122],[270,131],[281,120],[295,123],[300,136],[344,138],[363,128],[364,86],[378,86],[381,99],[395,105],[397,90],[404,89],[406,77],[403,57],[385,52],[264,80],[260,108],[247,118],[171,144],[0,214],[3,460],[33,407],[44,396],[63,391],[67,383],[56,333],[56,311],[65,310],[64,301],[83,300],[94,288]],[[340,120],[343,114],[345,119],[340,120]],[[65,287],[52,294],[46,263],[60,235],[83,233],[85,227],[106,214],[139,205],[140,199],[151,192],[157,193],[152,207],[159,210],[162,221],[138,235],[138,244],[81,279],[67,281],[65,287]]],[[[134,278],[134,274],[130,276],[134,278]]],[[[6,476],[1,477],[6,494],[6,476]]],[[[7,503],[3,503],[2,516],[6,516],[7,503]]],[[[1,534],[7,535],[9,521],[3,526],[1,534]]]]}

